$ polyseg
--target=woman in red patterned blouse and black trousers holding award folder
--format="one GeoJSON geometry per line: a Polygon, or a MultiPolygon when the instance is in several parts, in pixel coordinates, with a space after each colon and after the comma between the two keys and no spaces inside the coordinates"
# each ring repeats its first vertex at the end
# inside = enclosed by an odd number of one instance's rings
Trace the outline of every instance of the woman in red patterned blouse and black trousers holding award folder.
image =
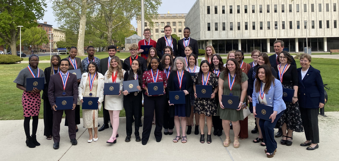
{"type": "Polygon", "coordinates": [[[162,125],[164,115],[164,105],[166,101],[165,88],[167,87],[167,78],[162,63],[159,58],[152,58],[151,64],[148,65],[147,71],[142,75],[142,88],[145,90],[144,104],[144,126],[142,132],[142,145],[146,145],[149,139],[149,135],[152,130],[152,118],[155,110],[155,131],[154,135],[157,142],[161,141],[162,138],[162,125]],[[151,83],[162,82],[162,86],[152,86],[151,83]],[[149,95],[149,92],[162,93],[159,95],[149,95]]]}

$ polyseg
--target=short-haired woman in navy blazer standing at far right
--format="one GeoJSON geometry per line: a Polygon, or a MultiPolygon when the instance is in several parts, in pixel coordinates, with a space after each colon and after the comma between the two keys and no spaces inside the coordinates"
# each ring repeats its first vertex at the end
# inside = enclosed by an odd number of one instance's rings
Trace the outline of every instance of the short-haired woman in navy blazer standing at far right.
{"type": "Polygon", "coordinates": [[[324,107],[324,84],[320,71],[311,65],[311,56],[300,56],[301,68],[298,68],[299,90],[298,99],[302,125],[304,126],[306,141],[300,146],[308,146],[307,150],[319,147],[318,111],[324,107]]]}

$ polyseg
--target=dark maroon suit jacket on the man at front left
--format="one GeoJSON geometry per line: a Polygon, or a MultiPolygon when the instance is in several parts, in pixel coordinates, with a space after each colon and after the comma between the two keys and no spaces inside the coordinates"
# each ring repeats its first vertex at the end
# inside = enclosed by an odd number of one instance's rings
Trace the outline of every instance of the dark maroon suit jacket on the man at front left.
{"type": "Polygon", "coordinates": [[[52,75],[48,85],[48,100],[51,106],[55,105],[55,97],[73,96],[73,104],[78,103],[78,82],[76,75],[69,73],[65,92],[66,95],[63,96],[63,84],[60,74],[52,75]]]}

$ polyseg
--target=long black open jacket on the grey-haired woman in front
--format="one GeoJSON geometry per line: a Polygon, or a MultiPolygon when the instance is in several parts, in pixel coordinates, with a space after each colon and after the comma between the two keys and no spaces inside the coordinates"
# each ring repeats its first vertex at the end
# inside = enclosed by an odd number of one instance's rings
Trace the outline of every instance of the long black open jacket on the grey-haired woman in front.
{"type": "MultiPolygon", "coordinates": [[[[171,71],[171,73],[169,74],[168,77],[168,82],[167,82],[167,90],[171,91],[171,89],[174,89],[174,81],[176,81],[174,79],[175,75],[177,74],[176,71],[171,71]]],[[[185,113],[186,113],[186,117],[190,117],[191,116],[191,99],[190,99],[190,94],[193,93],[193,80],[191,78],[191,74],[188,71],[184,71],[184,76],[186,77],[186,87],[187,87],[187,92],[188,95],[185,96],[185,113]]],[[[166,102],[168,103],[168,102],[166,102]]],[[[168,108],[168,112],[169,112],[169,117],[174,117],[174,105],[169,106],[168,108]]]]}

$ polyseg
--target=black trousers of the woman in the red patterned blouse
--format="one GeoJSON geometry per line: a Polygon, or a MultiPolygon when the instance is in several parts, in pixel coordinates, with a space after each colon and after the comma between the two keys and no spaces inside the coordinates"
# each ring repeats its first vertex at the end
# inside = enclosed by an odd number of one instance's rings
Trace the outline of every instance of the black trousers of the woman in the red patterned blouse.
{"type": "Polygon", "coordinates": [[[164,116],[164,105],[166,103],[166,96],[145,96],[144,97],[144,125],[142,131],[142,143],[147,143],[149,135],[152,130],[152,120],[155,110],[155,130],[154,136],[156,140],[161,140],[162,138],[162,125],[163,125],[163,116],[164,116]]]}

